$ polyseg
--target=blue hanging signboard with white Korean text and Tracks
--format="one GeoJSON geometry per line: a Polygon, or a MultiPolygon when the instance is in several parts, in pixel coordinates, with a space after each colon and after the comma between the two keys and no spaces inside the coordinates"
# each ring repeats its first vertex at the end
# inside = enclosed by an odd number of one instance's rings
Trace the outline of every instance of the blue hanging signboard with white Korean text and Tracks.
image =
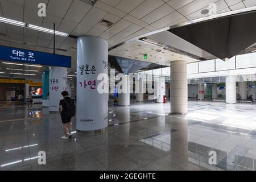
{"type": "Polygon", "coordinates": [[[71,56],[0,46],[0,60],[71,68],[71,56]]]}

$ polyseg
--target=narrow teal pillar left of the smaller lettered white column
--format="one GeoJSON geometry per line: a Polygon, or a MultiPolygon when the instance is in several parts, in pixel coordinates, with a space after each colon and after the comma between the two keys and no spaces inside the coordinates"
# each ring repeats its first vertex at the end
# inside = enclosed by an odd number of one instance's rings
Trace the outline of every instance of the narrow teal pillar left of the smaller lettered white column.
{"type": "Polygon", "coordinates": [[[49,72],[43,72],[43,107],[49,107],[49,72]]]}

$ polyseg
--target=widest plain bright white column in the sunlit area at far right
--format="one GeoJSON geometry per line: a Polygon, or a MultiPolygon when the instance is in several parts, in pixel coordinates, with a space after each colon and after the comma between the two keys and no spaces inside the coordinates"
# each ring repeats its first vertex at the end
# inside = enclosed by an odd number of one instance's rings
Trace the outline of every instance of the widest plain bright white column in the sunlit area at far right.
{"type": "Polygon", "coordinates": [[[226,103],[237,102],[237,76],[226,76],[226,103]]]}

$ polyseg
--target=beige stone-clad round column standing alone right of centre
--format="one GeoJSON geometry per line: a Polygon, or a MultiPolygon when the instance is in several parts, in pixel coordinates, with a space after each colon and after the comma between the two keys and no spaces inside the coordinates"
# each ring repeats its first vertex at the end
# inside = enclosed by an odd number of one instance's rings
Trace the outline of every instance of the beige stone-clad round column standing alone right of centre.
{"type": "Polygon", "coordinates": [[[187,61],[171,62],[171,113],[187,114],[187,61]]]}

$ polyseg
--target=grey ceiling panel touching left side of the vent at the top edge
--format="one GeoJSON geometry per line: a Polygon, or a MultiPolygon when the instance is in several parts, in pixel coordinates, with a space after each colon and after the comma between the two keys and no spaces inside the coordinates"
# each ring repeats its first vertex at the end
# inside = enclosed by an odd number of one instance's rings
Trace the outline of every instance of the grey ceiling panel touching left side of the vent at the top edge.
{"type": "Polygon", "coordinates": [[[73,1],[71,7],[69,8],[65,19],[71,20],[72,22],[79,23],[85,14],[92,8],[88,3],[82,2],[80,0],[73,1]]]}

